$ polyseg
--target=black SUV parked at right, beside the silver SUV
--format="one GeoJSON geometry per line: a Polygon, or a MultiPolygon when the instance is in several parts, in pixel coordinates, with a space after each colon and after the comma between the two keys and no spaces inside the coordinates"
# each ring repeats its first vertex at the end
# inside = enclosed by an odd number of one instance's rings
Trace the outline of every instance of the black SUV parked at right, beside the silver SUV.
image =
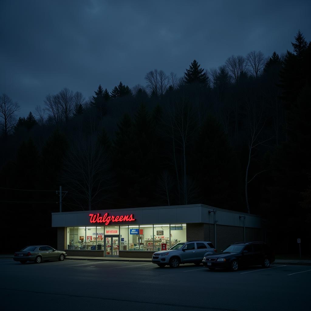
{"type": "Polygon", "coordinates": [[[238,242],[229,245],[221,253],[203,258],[203,266],[210,270],[216,268],[237,271],[239,267],[262,265],[268,268],[274,262],[273,251],[263,242],[238,242]]]}

